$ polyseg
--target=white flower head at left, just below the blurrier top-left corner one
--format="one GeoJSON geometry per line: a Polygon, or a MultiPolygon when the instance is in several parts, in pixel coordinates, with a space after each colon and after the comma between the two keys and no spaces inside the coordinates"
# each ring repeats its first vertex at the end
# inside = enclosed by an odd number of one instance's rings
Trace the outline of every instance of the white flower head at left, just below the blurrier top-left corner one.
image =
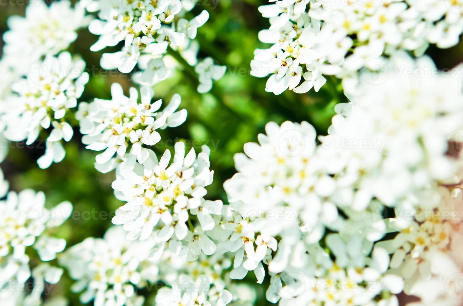
{"type": "Polygon", "coordinates": [[[63,118],[67,110],[77,105],[88,82],[84,68],[84,61],[62,52],[35,62],[29,76],[12,85],[14,105],[1,117],[6,126],[4,135],[12,141],[26,140],[29,145],[37,140],[41,130],[51,126],[45,155],[38,161],[41,168],[64,158],[61,140],[70,141],[74,133],[63,118]]]}

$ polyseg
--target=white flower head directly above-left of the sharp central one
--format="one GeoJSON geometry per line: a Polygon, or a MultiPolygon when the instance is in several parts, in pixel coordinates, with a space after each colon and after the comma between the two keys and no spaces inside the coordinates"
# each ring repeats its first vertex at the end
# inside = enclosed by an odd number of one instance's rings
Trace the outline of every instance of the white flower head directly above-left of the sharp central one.
{"type": "Polygon", "coordinates": [[[151,102],[152,89],[142,87],[140,92],[141,103],[137,89],[131,88],[130,96],[126,97],[122,86],[113,83],[111,100],[96,98],[92,103],[79,104],[75,116],[84,134],[82,142],[88,145],[88,149],[105,150],[96,156],[97,168],[102,172],[114,169],[115,159],[112,158],[116,153],[123,157],[128,151],[139,163],[144,163],[150,150],[142,146],[153,146],[161,140],[156,129],[179,126],[187,118],[187,110],[176,112],[181,102],[178,94],[163,111],[159,111],[162,100],[151,102]]]}

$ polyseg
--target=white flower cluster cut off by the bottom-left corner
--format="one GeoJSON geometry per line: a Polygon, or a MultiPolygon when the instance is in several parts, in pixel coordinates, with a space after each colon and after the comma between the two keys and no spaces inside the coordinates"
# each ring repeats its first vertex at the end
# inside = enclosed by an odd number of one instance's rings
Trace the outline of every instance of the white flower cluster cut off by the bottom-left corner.
{"type": "Polygon", "coordinates": [[[44,205],[44,193],[33,190],[19,194],[10,191],[6,200],[0,202],[0,297],[10,300],[11,305],[17,305],[17,299],[24,299],[25,305],[38,304],[45,282],[55,284],[63,274],[63,269],[48,263],[31,269],[29,262],[30,247],[41,261],[48,262],[66,246],[65,239],[52,237],[48,232],[68,219],[72,205],[62,202],[50,210],[44,205]],[[23,288],[30,277],[34,280],[31,293],[24,296],[19,291],[21,297],[15,296],[13,288],[23,288]]]}

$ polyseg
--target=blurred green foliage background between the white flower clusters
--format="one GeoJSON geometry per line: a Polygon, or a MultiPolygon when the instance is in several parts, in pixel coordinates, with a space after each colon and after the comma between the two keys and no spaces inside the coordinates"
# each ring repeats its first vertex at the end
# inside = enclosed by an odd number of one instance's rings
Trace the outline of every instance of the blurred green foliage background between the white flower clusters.
{"type": "MultiPolygon", "coordinates": [[[[347,101],[336,79],[329,79],[318,93],[310,91],[298,95],[286,91],[275,96],[264,90],[267,78],[250,76],[254,49],[269,47],[257,39],[257,32],[269,27],[268,19],[263,18],[257,10],[258,6],[266,3],[263,0],[200,0],[201,5],[194,8],[192,16],[206,9],[210,18],[198,31],[198,58],[211,56],[220,65],[226,65],[225,76],[214,84],[211,92],[202,95],[196,92],[197,80],[191,76],[191,67],[185,73],[175,71],[171,78],[155,86],[155,98],[162,98],[164,106],[174,93],[179,93],[182,97],[180,108],[188,110],[184,124],[161,132],[163,141],[186,140],[188,144],[194,140],[197,152],[200,144],[211,147],[214,183],[208,187],[208,199],[221,199],[226,203],[222,184],[235,173],[233,154],[243,152],[244,143],[257,141],[257,134],[264,132],[267,122],[308,121],[319,134],[325,135],[334,114],[334,104],[347,101]]],[[[24,10],[25,6],[0,6],[0,34],[6,31],[6,19],[14,14],[24,15],[24,10]]],[[[89,50],[96,40],[96,36],[82,29],[69,50],[80,54],[87,62],[87,67],[99,71],[99,59],[103,51],[95,53],[89,50]]],[[[106,48],[104,52],[114,52],[118,48],[120,46],[106,48]]],[[[439,68],[444,68],[459,63],[462,51],[463,44],[460,43],[446,50],[431,47],[427,54],[432,56],[439,68]]],[[[111,73],[117,74],[113,77],[108,76],[108,73],[91,75],[81,101],[110,98],[109,88],[113,82],[121,83],[128,92],[132,85],[131,76],[111,73]]],[[[73,140],[65,144],[65,159],[46,170],[40,170],[36,164],[44,149],[34,146],[12,148],[1,165],[6,178],[11,182],[12,190],[43,190],[47,201],[54,205],[69,200],[75,211],[89,212],[85,216],[71,217],[59,229],[57,235],[66,238],[68,246],[89,236],[101,237],[112,225],[111,213],[121,204],[114,198],[111,188],[114,173],[101,174],[96,171],[93,165],[96,153],[86,150],[80,139],[78,128],[75,128],[73,140]]],[[[156,146],[154,150],[162,154],[164,148],[156,146]]],[[[248,274],[248,279],[249,282],[255,282],[252,272],[248,274]]],[[[69,291],[67,289],[70,284],[67,275],[64,276],[62,282],[55,286],[52,295],[62,290],[69,291]]],[[[266,288],[266,285],[259,286],[258,305],[268,303],[264,297],[266,288]]],[[[80,305],[77,294],[69,294],[69,298],[71,305],[80,305]]]]}

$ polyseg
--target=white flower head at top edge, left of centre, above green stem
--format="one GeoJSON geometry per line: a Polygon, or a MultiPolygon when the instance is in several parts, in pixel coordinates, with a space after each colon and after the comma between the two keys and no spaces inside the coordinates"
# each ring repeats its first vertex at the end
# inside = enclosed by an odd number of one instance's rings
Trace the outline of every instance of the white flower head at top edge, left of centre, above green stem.
{"type": "Polygon", "coordinates": [[[180,0],[88,2],[88,11],[99,12],[99,19],[94,19],[88,27],[90,32],[100,36],[90,49],[99,51],[124,41],[125,46],[121,51],[106,53],[101,59],[102,67],[118,68],[122,73],[130,73],[143,55],[164,54],[168,45],[174,48],[181,46],[185,36],[193,39],[197,28],[209,18],[206,11],[189,21],[182,18],[194,6],[183,6],[182,10],[180,0]]]}

